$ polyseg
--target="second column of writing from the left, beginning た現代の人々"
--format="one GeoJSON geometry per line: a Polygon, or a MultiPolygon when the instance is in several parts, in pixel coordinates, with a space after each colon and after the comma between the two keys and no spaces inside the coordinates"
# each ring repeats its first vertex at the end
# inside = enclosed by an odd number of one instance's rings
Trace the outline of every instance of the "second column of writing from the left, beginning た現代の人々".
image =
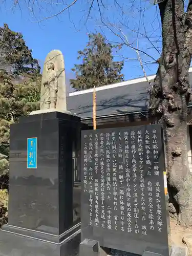
{"type": "MultiPolygon", "coordinates": [[[[89,136],[89,162],[91,163],[93,160],[93,137],[92,134],[89,136]]],[[[93,168],[89,167],[89,206],[90,206],[90,225],[93,225],[93,168]]]]}

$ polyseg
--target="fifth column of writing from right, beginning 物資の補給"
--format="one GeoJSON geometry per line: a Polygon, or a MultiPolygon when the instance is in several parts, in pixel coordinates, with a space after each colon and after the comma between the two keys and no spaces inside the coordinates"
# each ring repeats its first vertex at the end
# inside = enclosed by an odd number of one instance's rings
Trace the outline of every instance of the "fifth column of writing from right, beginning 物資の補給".
{"type": "Polygon", "coordinates": [[[126,222],[127,222],[127,232],[131,233],[132,228],[132,211],[131,211],[131,173],[129,166],[129,133],[124,132],[124,154],[125,154],[125,177],[126,177],[126,222]]]}

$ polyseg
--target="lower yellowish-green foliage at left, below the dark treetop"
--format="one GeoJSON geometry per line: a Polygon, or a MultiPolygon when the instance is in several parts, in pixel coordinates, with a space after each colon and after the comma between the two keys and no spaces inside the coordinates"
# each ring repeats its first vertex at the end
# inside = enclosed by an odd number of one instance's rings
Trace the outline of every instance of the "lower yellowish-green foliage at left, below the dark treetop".
{"type": "Polygon", "coordinates": [[[0,74],[0,176],[9,169],[10,124],[39,109],[39,97],[40,78],[17,84],[7,74],[0,74]]]}

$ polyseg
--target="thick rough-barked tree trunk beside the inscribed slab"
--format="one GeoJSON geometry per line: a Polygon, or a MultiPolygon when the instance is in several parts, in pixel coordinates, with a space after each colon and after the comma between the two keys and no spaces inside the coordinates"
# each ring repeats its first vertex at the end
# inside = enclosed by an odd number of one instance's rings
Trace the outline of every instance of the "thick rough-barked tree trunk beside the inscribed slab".
{"type": "Polygon", "coordinates": [[[162,54],[150,92],[150,109],[163,125],[169,206],[178,223],[192,226],[192,176],[187,158],[188,69],[192,53],[192,0],[159,4],[162,54]]]}

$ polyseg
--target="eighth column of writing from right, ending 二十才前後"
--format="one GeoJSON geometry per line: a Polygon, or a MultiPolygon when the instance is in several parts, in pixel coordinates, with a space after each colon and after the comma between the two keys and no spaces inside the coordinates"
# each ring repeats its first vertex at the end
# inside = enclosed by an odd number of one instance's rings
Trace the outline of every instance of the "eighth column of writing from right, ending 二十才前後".
{"type": "Polygon", "coordinates": [[[105,134],[106,138],[106,204],[108,210],[108,229],[112,229],[112,215],[111,215],[111,143],[110,143],[110,134],[105,134]]]}

